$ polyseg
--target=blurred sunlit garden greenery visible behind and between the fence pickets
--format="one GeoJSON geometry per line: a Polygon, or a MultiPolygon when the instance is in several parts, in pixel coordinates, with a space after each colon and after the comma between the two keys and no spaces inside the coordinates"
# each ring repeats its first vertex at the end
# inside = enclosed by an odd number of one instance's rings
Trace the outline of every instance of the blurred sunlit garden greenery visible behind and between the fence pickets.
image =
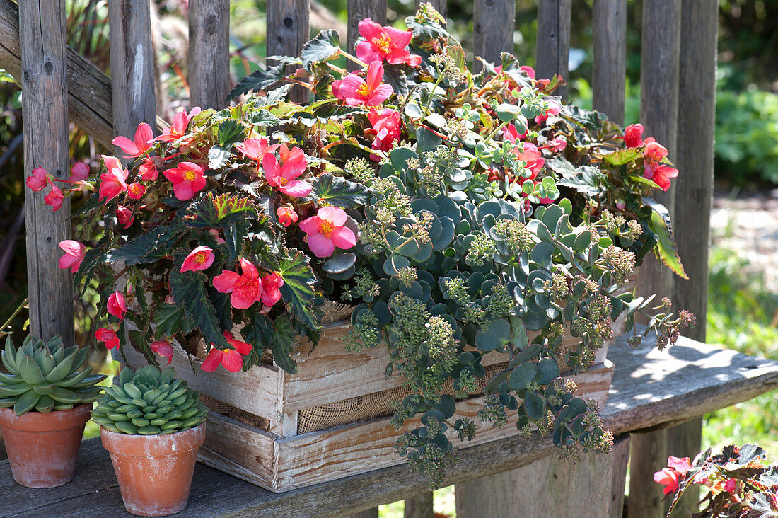
{"type": "MultiPolygon", "coordinates": [[[[68,0],[68,44],[110,72],[107,0],[68,0]]],[[[628,0],[625,123],[640,121],[641,0],[628,0]]],[[[188,106],[187,0],[154,0],[155,41],[163,118],[188,106]]],[[[412,0],[389,0],[389,23],[413,11],[412,0]]],[[[715,189],[711,220],[710,292],[707,339],[747,354],[778,360],[778,0],[720,0],[717,69],[715,189]]],[[[346,0],[311,1],[311,30],[335,28],[345,34],[346,0]]],[[[570,97],[591,108],[592,0],[573,0],[570,37],[570,97]],[[580,20],[580,23],[578,22],[580,20]]],[[[471,48],[472,2],[449,0],[449,29],[471,48]]],[[[232,0],[233,83],[252,72],[265,55],[265,2],[232,0]]],[[[514,51],[534,65],[537,0],[517,0],[514,51]]],[[[26,310],[23,146],[21,92],[0,69],[0,325],[23,339],[26,310]]],[[[100,146],[72,127],[71,154],[93,166],[100,146]]],[[[679,150],[682,151],[682,150],[679,150]]],[[[683,171],[681,171],[683,174],[683,171]]],[[[73,199],[77,205],[78,199],[73,199]]],[[[84,229],[74,238],[85,241],[84,229]]],[[[76,342],[94,345],[96,294],[76,302],[76,342]],[[87,309],[91,308],[91,309],[87,309]]],[[[94,361],[110,371],[103,347],[94,361]]],[[[95,434],[96,429],[87,430],[95,434]]],[[[770,394],[707,415],[703,448],[730,442],[758,442],[778,456],[778,401],[770,394]]],[[[447,509],[445,495],[439,511],[447,509]]],[[[453,498],[450,499],[453,506],[453,498]]],[[[394,516],[397,509],[384,509],[394,516]]]]}

